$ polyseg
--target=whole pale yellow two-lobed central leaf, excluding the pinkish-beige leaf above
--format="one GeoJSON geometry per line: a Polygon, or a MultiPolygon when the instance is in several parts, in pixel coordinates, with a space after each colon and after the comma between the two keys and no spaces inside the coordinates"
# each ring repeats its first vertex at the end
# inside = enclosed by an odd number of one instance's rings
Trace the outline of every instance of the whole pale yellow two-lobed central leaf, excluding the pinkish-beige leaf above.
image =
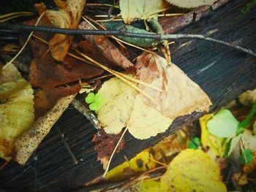
{"type": "Polygon", "coordinates": [[[135,138],[148,139],[166,131],[173,121],[144,104],[138,92],[117,77],[106,81],[98,93],[104,101],[96,113],[107,134],[118,134],[128,126],[135,138]]]}

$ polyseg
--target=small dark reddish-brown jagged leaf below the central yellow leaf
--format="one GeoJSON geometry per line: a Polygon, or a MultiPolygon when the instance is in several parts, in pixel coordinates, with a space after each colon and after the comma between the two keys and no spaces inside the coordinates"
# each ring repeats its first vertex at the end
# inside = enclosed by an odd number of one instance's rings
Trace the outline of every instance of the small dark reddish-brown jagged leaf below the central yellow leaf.
{"type": "MultiPolygon", "coordinates": [[[[113,153],[114,148],[118,140],[121,137],[121,133],[119,134],[106,134],[103,128],[99,129],[97,134],[94,134],[94,139],[92,140],[95,142],[94,150],[97,151],[98,156],[97,160],[101,161],[103,168],[106,169],[108,165],[108,161],[110,159],[111,153],[113,153]]],[[[116,153],[122,150],[124,147],[124,139],[121,140],[116,153]]]]}

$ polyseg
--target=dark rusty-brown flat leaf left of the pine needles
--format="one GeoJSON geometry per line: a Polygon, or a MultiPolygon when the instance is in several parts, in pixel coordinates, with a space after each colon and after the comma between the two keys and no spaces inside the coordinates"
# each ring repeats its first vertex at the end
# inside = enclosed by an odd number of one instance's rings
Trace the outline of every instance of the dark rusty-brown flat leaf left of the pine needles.
{"type": "Polygon", "coordinates": [[[34,87],[52,89],[82,78],[89,79],[104,71],[67,56],[63,64],[55,61],[48,49],[40,42],[31,41],[34,59],[31,63],[29,81],[34,87]]]}

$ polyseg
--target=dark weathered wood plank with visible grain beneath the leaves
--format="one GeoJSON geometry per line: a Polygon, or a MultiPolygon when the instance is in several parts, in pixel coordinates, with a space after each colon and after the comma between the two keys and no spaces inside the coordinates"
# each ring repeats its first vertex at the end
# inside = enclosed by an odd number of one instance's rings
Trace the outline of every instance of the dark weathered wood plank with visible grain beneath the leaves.
{"type": "MultiPolygon", "coordinates": [[[[256,51],[256,7],[246,15],[241,9],[246,1],[231,1],[198,23],[180,31],[183,34],[206,34],[218,29],[211,37],[224,39],[256,51]]],[[[211,111],[236,99],[240,93],[256,88],[256,58],[233,50],[198,40],[182,40],[171,47],[173,63],[197,82],[211,98],[211,111]]],[[[175,94],[175,93],[173,93],[175,94]]],[[[194,113],[175,120],[169,130],[146,140],[134,139],[127,134],[124,150],[115,155],[112,167],[132,158],[133,155],[162,138],[167,137],[185,123],[202,114],[194,113]]],[[[93,126],[89,120],[70,107],[64,112],[50,134],[43,140],[26,166],[11,162],[0,172],[1,188],[15,191],[68,191],[103,173],[94,152],[93,126]],[[58,128],[64,134],[78,164],[73,164],[58,128]]]]}

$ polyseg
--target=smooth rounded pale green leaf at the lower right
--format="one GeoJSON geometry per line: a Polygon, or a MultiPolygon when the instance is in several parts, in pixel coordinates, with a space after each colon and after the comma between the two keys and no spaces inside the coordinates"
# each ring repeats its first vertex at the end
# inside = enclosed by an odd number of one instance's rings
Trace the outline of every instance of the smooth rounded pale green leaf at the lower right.
{"type": "Polygon", "coordinates": [[[230,110],[219,110],[213,118],[208,120],[208,131],[217,137],[230,138],[236,136],[238,120],[232,115],[230,110]]]}

